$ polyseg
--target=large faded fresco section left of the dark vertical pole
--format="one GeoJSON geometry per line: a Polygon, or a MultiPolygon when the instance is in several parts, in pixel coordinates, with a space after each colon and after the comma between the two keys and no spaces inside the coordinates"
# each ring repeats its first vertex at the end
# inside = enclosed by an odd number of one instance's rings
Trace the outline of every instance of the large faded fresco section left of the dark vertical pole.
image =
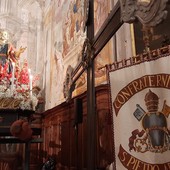
{"type": "MultiPolygon", "coordinates": [[[[84,32],[84,2],[85,0],[55,0],[50,12],[53,21],[51,23],[53,46],[50,61],[51,107],[65,101],[63,82],[67,67],[71,65],[74,68],[81,54],[86,35],[84,32]]],[[[84,88],[82,88],[83,84],[77,82],[77,88],[81,88],[81,91],[84,88]]]]}

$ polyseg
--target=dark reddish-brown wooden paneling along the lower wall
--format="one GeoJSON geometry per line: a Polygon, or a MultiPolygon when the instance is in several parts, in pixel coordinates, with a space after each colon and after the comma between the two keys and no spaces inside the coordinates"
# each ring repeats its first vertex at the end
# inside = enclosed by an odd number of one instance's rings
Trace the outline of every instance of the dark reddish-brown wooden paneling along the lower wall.
{"type": "MultiPolygon", "coordinates": [[[[82,99],[83,122],[75,125],[74,100],[46,111],[43,116],[43,160],[54,156],[57,170],[87,168],[87,99],[82,99]]],[[[96,88],[96,167],[105,168],[113,162],[112,122],[108,86],[96,88]]],[[[80,114],[80,113],[79,113],[80,114]]]]}

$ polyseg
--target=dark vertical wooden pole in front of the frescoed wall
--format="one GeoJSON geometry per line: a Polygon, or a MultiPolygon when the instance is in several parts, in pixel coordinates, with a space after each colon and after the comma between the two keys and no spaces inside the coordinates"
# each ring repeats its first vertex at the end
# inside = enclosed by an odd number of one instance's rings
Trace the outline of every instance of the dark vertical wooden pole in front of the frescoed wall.
{"type": "MultiPolygon", "coordinates": [[[[94,0],[89,0],[89,19],[87,38],[92,42],[94,38],[94,0]]],[[[92,56],[90,56],[92,58],[92,56]]],[[[87,169],[95,170],[96,151],[96,120],[95,120],[95,85],[94,60],[90,60],[87,67],[87,169]]]]}

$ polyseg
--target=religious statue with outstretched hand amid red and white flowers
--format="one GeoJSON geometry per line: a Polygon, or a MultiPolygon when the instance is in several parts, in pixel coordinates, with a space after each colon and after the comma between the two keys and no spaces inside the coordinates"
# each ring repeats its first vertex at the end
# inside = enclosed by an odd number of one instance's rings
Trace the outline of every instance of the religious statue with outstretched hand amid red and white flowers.
{"type": "Polygon", "coordinates": [[[0,29],[0,108],[36,110],[40,88],[35,82],[39,76],[33,77],[26,60],[19,62],[26,47],[16,50],[9,40],[9,33],[0,29]]]}

